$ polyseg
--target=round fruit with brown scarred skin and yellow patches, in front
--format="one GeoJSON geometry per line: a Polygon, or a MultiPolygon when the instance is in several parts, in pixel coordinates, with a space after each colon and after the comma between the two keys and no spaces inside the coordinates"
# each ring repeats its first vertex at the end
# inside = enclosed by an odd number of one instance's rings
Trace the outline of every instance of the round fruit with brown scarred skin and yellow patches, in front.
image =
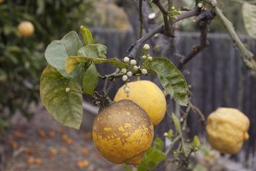
{"type": "Polygon", "coordinates": [[[92,135],[95,146],[108,161],[139,165],[153,142],[154,127],[143,108],[131,100],[122,100],[99,112],[92,135]]]}

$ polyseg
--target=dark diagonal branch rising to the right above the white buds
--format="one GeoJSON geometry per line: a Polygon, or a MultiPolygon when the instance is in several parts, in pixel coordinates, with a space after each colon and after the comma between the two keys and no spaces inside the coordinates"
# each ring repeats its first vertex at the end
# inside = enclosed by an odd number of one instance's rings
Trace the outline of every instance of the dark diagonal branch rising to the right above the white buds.
{"type": "MultiPolygon", "coordinates": [[[[196,8],[193,8],[192,10],[181,13],[180,15],[177,15],[176,20],[173,20],[173,24],[175,22],[178,22],[179,20],[183,20],[183,19],[186,19],[186,18],[189,18],[189,17],[196,16],[196,15],[200,14],[200,12],[201,12],[201,8],[196,7],[196,8]]],[[[161,25],[155,27],[152,31],[145,34],[142,38],[137,40],[135,43],[132,43],[131,47],[127,50],[127,52],[129,52],[129,57],[131,59],[134,59],[134,56],[138,52],[138,48],[143,43],[145,43],[145,41],[147,41],[148,39],[150,39],[152,36],[154,36],[157,33],[164,33],[164,24],[161,24],[161,25]]]]}

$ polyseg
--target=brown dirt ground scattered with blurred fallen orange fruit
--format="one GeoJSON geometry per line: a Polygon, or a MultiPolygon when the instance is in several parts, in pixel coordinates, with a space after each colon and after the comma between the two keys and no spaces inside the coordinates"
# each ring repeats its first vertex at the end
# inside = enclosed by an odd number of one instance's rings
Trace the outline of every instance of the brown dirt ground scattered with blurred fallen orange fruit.
{"type": "Polygon", "coordinates": [[[90,127],[68,128],[42,105],[34,110],[31,122],[15,115],[6,137],[0,137],[0,170],[124,170],[99,154],[90,127]]]}

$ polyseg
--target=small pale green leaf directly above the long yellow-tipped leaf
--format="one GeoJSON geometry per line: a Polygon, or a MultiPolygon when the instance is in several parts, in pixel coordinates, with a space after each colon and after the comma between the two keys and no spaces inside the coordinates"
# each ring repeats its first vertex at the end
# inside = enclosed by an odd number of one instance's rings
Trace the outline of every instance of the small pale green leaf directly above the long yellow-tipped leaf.
{"type": "Polygon", "coordinates": [[[88,57],[106,59],[105,54],[107,54],[107,49],[108,48],[102,44],[87,45],[78,50],[78,56],[88,56],[88,57]]]}

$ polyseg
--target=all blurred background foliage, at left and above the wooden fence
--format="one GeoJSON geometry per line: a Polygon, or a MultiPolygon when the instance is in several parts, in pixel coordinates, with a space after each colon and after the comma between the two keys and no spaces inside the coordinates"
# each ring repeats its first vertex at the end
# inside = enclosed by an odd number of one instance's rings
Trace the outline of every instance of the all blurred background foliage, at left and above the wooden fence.
{"type": "MultiPolygon", "coordinates": [[[[8,126],[6,121],[17,110],[31,118],[28,107],[40,99],[38,85],[46,66],[44,51],[52,40],[59,40],[72,30],[79,33],[81,25],[90,29],[132,29],[125,7],[118,7],[117,1],[6,0],[0,3],[0,130],[1,126],[8,126]],[[35,26],[35,33],[26,38],[17,29],[24,20],[35,26]]],[[[246,34],[241,4],[229,0],[218,2],[236,30],[246,34]]],[[[195,1],[173,0],[173,4],[177,9],[193,8],[195,1]]],[[[153,6],[152,11],[155,10],[153,6]]],[[[134,16],[134,20],[138,20],[138,16],[134,16]]],[[[163,17],[159,15],[157,21],[163,22],[163,17]]],[[[192,18],[182,20],[175,27],[179,31],[198,31],[192,18]]],[[[218,17],[212,20],[209,29],[214,33],[227,33],[218,17]]]]}

